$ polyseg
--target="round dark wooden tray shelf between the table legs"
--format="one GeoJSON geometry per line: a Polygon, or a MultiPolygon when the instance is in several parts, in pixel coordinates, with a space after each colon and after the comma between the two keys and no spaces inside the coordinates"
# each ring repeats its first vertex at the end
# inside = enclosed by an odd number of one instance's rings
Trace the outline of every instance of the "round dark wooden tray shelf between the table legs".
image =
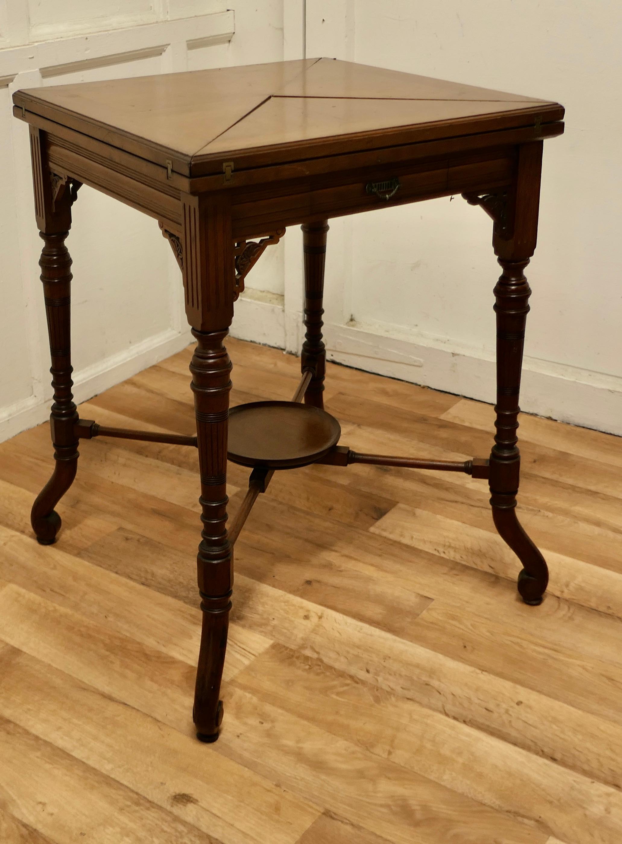
{"type": "Polygon", "coordinates": [[[337,419],[310,404],[240,404],[229,413],[228,457],[251,468],[307,466],[336,446],[339,436],[337,419]]]}

